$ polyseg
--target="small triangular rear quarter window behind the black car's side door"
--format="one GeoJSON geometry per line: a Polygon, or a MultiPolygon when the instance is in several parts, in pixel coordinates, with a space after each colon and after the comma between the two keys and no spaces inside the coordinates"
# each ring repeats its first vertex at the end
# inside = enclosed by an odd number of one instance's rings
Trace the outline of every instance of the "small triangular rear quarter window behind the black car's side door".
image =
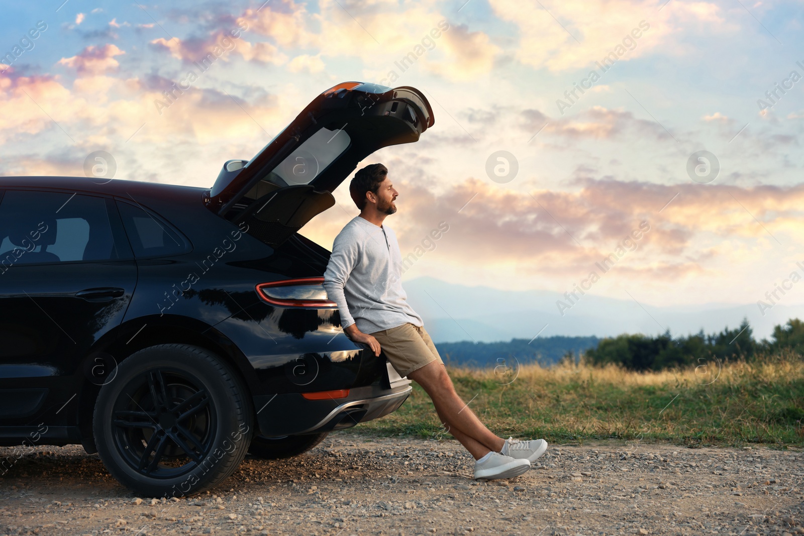
{"type": "Polygon", "coordinates": [[[181,255],[191,251],[187,239],[158,215],[121,201],[117,202],[117,208],[137,259],[181,255]]]}

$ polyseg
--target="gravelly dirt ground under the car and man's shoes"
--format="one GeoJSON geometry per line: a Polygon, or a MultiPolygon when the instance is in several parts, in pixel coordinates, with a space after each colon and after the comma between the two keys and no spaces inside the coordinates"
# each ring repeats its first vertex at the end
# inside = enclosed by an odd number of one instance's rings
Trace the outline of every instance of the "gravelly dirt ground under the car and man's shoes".
{"type": "Polygon", "coordinates": [[[0,479],[0,534],[804,534],[804,453],[551,446],[474,481],[453,440],[334,433],[290,460],[248,456],[219,489],[134,497],[80,447],[38,447],[0,479]]]}

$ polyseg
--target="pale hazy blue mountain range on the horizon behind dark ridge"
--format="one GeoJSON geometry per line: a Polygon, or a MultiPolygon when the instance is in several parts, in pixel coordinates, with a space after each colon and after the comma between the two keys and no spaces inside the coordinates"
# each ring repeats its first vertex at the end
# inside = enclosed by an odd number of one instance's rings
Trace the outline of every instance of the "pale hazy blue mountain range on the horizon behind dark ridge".
{"type": "Polygon", "coordinates": [[[769,338],[773,325],[804,318],[804,305],[774,305],[761,314],[757,304],[708,303],[656,307],[631,299],[585,294],[559,313],[563,294],[547,290],[498,290],[448,283],[433,277],[404,282],[408,301],[425,321],[433,342],[499,342],[556,335],[613,337],[621,333],[654,335],[670,329],[673,336],[716,333],[734,328],[747,317],[757,340],[769,338]]]}

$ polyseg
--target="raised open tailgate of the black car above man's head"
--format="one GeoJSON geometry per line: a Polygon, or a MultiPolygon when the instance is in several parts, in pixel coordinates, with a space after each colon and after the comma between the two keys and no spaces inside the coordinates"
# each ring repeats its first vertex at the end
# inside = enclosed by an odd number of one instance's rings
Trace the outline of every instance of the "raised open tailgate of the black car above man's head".
{"type": "Polygon", "coordinates": [[[224,164],[207,207],[279,245],[334,205],[331,192],[357,164],[388,145],[418,141],[433,109],[407,86],[345,82],[317,96],[248,161],[224,164]]]}

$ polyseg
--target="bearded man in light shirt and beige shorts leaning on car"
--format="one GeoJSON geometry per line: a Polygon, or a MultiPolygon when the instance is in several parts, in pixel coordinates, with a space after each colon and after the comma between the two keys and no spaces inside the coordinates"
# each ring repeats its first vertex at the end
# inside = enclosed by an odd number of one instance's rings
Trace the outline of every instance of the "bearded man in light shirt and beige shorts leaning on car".
{"type": "Polygon", "coordinates": [[[400,374],[433,399],[441,422],[474,456],[475,478],[511,478],[544,454],[545,440],[503,440],[480,422],[455,392],[444,362],[421,317],[408,305],[400,283],[402,256],[396,235],[383,222],[396,212],[399,193],[382,164],[355,174],[349,193],[360,209],[335,238],[324,287],[338,304],[343,331],[352,341],[383,350],[400,374]]]}

